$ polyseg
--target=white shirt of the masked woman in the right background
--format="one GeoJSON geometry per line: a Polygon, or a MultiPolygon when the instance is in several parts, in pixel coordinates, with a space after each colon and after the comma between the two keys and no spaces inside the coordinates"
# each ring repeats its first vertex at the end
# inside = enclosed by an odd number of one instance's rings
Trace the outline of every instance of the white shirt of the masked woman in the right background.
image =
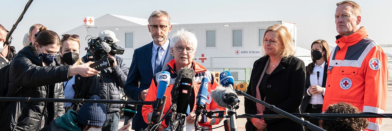
{"type": "MultiPolygon", "coordinates": [[[[325,65],[325,61],[323,64],[321,64],[320,66],[317,66],[316,63],[314,64],[314,68],[313,68],[313,74],[310,74],[310,86],[313,85],[318,85],[321,86],[323,85],[323,76],[324,76],[324,65],[325,65]],[[319,77],[317,78],[317,71],[319,71],[319,77]]],[[[308,96],[310,96],[309,94],[309,89],[307,89],[306,93],[308,94],[308,96]]],[[[323,104],[323,95],[325,93],[325,87],[323,87],[323,93],[316,93],[313,94],[310,97],[310,101],[309,104],[323,104]]]]}

